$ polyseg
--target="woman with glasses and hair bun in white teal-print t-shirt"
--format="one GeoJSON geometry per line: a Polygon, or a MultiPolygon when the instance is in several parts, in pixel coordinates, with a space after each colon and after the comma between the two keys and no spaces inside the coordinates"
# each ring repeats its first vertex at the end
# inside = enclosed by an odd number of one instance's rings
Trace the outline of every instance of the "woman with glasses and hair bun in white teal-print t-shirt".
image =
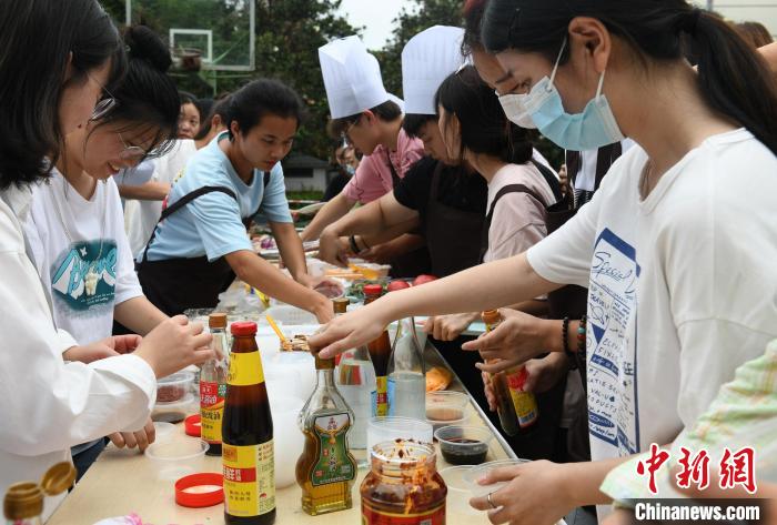
{"type": "MultiPolygon", "coordinates": [[[[121,168],[167,148],[175,137],[178,93],[164,74],[171,60],[148,28],[127,30],[129,72],[112,94],[104,119],[68,134],[51,180],[33,190],[24,233],[43,285],[49,289],[57,327],[80,345],[109,337],[113,320],[145,335],[168,316],[151,304],[138,283],[124,233],[121,201],[113,182],[121,168]]],[[[90,363],[118,355],[102,350],[62,349],[65,361],[90,363]]],[[[135,433],[113,434],[119,446],[153,441],[153,424],[135,433]]],[[[73,447],[79,476],[104,447],[103,440],[73,447]]]]}

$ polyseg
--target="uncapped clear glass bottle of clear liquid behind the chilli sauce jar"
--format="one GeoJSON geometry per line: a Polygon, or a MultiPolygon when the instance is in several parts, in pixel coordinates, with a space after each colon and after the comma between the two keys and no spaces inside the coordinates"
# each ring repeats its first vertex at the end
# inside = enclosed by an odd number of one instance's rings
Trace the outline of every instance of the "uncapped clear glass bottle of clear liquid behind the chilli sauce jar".
{"type": "Polygon", "coordinates": [[[415,320],[397,322],[389,360],[389,414],[426,418],[426,364],[415,333],[415,320]]]}

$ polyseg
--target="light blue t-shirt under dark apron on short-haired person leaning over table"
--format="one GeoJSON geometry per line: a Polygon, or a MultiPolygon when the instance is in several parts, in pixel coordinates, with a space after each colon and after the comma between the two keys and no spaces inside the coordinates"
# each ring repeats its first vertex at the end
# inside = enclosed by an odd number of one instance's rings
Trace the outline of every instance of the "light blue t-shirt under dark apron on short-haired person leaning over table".
{"type": "MultiPolygon", "coordinates": [[[[222,192],[211,192],[170,215],[157,229],[149,261],[206,255],[213,262],[232,252],[253,250],[242,220],[258,209],[271,222],[292,222],[281,163],[270,171],[266,189],[264,173],[259,170],[254,170],[251,183],[246,184],[219,147],[222,140],[229,140],[226,132],[189,159],[183,173],[173,182],[168,205],[202,186],[226,188],[236,200],[222,192]]],[[[142,258],[141,253],[138,261],[142,258]]]]}

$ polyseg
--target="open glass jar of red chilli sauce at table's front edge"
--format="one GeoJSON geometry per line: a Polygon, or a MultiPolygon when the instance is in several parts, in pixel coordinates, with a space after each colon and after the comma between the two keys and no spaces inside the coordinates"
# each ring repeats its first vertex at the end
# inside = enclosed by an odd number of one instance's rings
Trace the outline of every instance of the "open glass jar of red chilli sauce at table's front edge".
{"type": "Polygon", "coordinates": [[[443,525],[447,487],[436,465],[434,447],[396,440],[375,445],[372,471],[361,486],[365,525],[443,525]]]}

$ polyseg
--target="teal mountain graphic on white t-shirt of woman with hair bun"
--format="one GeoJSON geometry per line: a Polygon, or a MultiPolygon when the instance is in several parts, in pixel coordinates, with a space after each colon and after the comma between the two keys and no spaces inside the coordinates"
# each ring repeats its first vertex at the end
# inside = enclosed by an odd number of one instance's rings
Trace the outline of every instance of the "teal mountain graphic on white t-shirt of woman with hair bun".
{"type": "Polygon", "coordinates": [[[115,281],[117,243],[112,239],[72,243],[51,266],[56,301],[81,316],[113,309],[115,281]]]}

